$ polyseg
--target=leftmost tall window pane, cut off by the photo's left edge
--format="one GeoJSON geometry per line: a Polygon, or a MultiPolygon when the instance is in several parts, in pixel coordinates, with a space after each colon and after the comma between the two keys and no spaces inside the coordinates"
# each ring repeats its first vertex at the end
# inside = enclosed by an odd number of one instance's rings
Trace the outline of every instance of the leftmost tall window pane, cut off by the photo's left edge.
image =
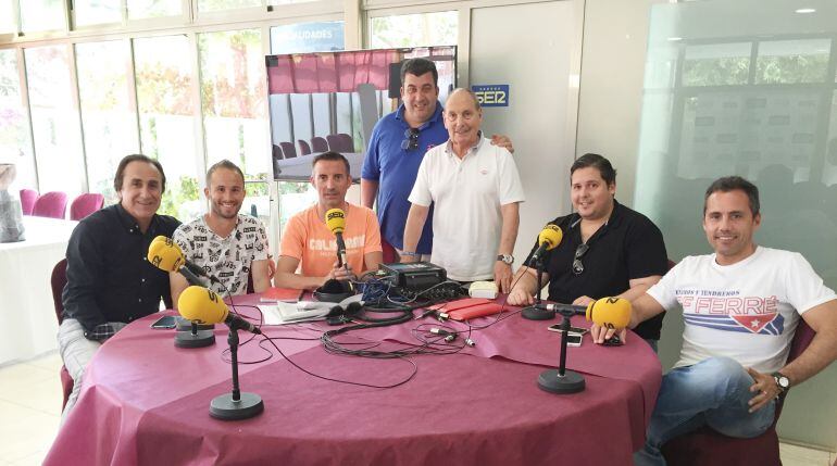
{"type": "Polygon", "coordinates": [[[17,166],[15,185],[37,188],[32,156],[28,115],[21,101],[21,79],[15,49],[0,50],[0,162],[17,166]]]}

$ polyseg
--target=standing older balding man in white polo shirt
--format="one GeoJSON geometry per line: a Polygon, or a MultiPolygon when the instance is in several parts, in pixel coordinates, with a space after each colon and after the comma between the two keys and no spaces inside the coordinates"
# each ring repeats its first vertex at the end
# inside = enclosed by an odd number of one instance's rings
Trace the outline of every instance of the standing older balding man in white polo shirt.
{"type": "Polygon", "coordinates": [[[483,111],[467,89],[455,89],[445,103],[448,142],[424,156],[410,193],[402,262],[414,262],[430,203],[434,264],[458,281],[494,279],[508,292],[514,241],[524,201],[511,153],[483,138],[483,111]]]}

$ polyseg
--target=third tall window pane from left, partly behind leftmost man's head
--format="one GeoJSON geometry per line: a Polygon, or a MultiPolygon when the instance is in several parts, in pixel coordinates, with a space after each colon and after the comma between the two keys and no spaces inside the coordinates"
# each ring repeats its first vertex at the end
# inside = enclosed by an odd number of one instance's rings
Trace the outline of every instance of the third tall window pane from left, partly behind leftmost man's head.
{"type": "Polygon", "coordinates": [[[125,40],[76,46],[87,179],[90,192],[116,202],[113,174],[123,156],[139,152],[137,114],[128,85],[130,43],[125,40]]]}

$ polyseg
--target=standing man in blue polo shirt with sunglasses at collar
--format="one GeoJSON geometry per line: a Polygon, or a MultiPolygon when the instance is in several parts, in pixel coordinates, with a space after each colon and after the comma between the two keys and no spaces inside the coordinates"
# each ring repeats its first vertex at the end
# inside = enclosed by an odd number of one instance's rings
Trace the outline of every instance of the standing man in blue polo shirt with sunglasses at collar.
{"type": "MultiPolygon", "coordinates": [[[[413,189],[424,153],[448,140],[438,101],[438,79],[436,65],[427,59],[410,59],[401,65],[403,103],[375,125],[363,161],[361,203],[372,209],[377,198],[382,242],[395,248],[397,254],[403,250],[404,224],[410,212],[407,198],[413,189]]],[[[491,143],[514,152],[505,136],[491,136],[491,143]]],[[[429,259],[433,248],[430,218],[433,211],[415,250],[424,259],[429,259]]],[[[393,259],[398,260],[398,256],[393,259]]]]}

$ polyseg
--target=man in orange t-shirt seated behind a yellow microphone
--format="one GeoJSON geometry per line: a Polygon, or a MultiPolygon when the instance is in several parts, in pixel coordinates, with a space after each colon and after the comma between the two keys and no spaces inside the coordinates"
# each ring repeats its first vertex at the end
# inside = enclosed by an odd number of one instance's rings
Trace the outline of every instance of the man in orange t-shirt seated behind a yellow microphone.
{"type": "Polygon", "coordinates": [[[378,221],[372,210],[346,201],[351,181],[349,161],[341,154],[324,152],[314,158],[311,184],[317,203],[290,217],[285,227],[276,287],[310,290],[329,279],[349,280],[377,270],[383,260],[378,221]],[[337,266],[337,239],[325,224],[330,209],[346,213],[346,267],[337,266]]]}

